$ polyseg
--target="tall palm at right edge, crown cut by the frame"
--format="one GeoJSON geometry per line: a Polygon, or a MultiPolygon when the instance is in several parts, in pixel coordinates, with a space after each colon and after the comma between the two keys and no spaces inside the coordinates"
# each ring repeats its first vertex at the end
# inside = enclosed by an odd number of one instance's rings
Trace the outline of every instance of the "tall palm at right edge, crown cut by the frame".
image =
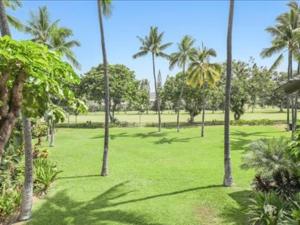
{"type": "MultiPolygon", "coordinates": [[[[270,57],[280,53],[272,67],[277,66],[283,59],[283,53],[288,51],[288,80],[293,76],[293,52],[298,48],[300,14],[299,5],[296,1],[288,3],[289,12],[283,13],[276,18],[277,24],[266,29],[273,36],[272,45],[263,49],[262,57],[270,57]]],[[[290,98],[287,102],[287,125],[290,123],[290,98]]]]}

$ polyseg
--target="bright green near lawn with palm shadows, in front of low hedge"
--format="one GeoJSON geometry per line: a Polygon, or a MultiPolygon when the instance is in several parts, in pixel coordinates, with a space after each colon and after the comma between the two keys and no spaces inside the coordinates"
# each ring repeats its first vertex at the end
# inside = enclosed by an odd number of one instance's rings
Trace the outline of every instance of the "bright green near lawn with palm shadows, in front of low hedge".
{"type": "Polygon", "coordinates": [[[34,207],[30,225],[211,225],[245,224],[241,204],[252,171],[240,169],[254,139],[285,135],[279,127],[232,127],[235,185],[221,186],[223,127],[111,129],[110,175],[98,176],[103,149],[100,129],[60,129],[50,157],[63,170],[34,207]]]}

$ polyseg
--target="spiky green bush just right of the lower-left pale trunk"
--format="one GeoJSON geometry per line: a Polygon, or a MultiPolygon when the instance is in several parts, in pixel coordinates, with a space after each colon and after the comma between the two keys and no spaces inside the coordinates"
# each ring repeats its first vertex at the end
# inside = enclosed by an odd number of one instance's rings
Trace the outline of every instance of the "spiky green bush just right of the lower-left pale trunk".
{"type": "Polygon", "coordinates": [[[34,160],[34,171],[34,191],[37,195],[46,194],[50,185],[61,172],[54,163],[45,158],[34,160]]]}

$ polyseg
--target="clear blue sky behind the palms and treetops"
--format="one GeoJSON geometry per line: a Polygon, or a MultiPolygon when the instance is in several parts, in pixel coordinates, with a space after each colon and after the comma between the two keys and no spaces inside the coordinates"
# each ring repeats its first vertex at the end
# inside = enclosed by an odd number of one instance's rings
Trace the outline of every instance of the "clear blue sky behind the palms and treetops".
{"type": "MultiPolygon", "coordinates": [[[[252,56],[260,65],[271,65],[274,58],[262,59],[262,48],[270,45],[271,37],[264,31],[273,25],[278,14],[287,10],[287,1],[236,1],[233,28],[233,58],[249,60],[252,56]]],[[[94,0],[24,0],[23,7],[14,12],[22,21],[29,18],[30,11],[39,6],[48,6],[51,18],[60,19],[61,25],[74,31],[74,38],[81,42],[81,47],[74,49],[82,65],[80,73],[88,71],[101,62],[99,25],[96,1],[94,0]]],[[[188,34],[214,48],[218,57],[216,61],[226,59],[226,32],[228,18],[228,1],[161,1],[161,0],[115,0],[113,14],[105,20],[108,60],[110,64],[122,63],[136,72],[138,79],[148,78],[152,81],[151,58],[132,59],[138,50],[137,35],[144,36],[150,26],[158,26],[165,32],[165,42],[173,42],[167,52],[176,50],[176,43],[188,34]]],[[[28,36],[14,31],[16,39],[28,36]]],[[[169,71],[168,62],[158,59],[157,68],[163,79],[169,71]]],[[[285,70],[286,63],[280,66],[285,70]]]]}

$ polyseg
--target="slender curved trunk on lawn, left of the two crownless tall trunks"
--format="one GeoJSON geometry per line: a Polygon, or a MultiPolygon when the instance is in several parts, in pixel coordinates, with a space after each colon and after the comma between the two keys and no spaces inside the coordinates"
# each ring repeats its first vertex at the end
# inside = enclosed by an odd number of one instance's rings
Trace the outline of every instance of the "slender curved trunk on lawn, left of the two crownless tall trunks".
{"type": "Polygon", "coordinates": [[[104,121],[104,151],[103,151],[103,161],[101,176],[108,175],[108,144],[109,144],[109,77],[108,77],[108,63],[105,48],[105,38],[104,38],[104,27],[103,27],[103,16],[102,16],[102,0],[98,0],[98,16],[100,25],[100,35],[101,35],[101,48],[103,57],[103,68],[104,68],[104,85],[105,85],[105,121],[104,121]]]}

